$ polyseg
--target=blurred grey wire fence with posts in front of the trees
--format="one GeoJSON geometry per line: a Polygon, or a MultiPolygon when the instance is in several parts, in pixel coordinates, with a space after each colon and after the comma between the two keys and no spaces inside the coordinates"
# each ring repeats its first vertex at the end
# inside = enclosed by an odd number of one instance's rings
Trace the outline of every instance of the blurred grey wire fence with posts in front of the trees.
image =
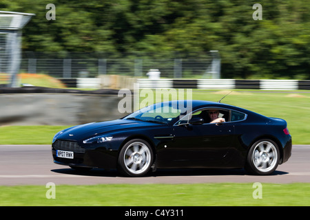
{"type": "Polygon", "coordinates": [[[145,77],[149,69],[159,69],[163,78],[220,78],[220,58],[216,51],[199,59],[124,57],[129,58],[115,58],[113,54],[24,52],[21,72],[55,78],[95,78],[105,74],[145,77]]]}

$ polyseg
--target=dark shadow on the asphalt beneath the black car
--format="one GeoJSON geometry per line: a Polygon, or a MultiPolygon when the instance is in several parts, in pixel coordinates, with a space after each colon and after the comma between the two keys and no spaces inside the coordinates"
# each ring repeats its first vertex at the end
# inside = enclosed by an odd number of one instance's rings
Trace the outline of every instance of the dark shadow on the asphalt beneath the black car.
{"type": "MultiPolygon", "coordinates": [[[[82,171],[74,170],[72,168],[59,168],[52,169],[54,173],[61,173],[67,175],[81,175],[81,176],[92,176],[92,177],[124,177],[120,175],[116,169],[104,170],[101,168],[93,168],[92,170],[82,171]]],[[[287,175],[289,173],[276,170],[269,176],[287,175]]],[[[199,169],[158,169],[155,172],[151,172],[145,177],[168,177],[168,176],[244,176],[251,175],[244,169],[217,169],[217,168],[199,168],[199,169]]]]}

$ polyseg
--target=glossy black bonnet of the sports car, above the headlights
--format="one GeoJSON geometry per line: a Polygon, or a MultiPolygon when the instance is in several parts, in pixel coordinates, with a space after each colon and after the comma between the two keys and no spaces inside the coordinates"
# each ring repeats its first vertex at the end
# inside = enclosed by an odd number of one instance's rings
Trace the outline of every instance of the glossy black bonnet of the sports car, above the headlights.
{"type": "Polygon", "coordinates": [[[64,140],[81,140],[89,138],[95,135],[101,135],[104,133],[112,133],[113,131],[121,131],[124,129],[136,129],[145,126],[161,126],[163,124],[154,124],[151,122],[141,122],[134,120],[112,120],[106,122],[92,122],[88,124],[81,124],[78,126],[72,126],[63,130],[57,139],[64,140]]]}

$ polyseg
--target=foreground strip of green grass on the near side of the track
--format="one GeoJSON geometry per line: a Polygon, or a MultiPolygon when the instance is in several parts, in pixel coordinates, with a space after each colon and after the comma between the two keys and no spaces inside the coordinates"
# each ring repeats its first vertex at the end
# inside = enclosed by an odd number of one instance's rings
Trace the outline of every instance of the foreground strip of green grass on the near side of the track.
{"type": "Polygon", "coordinates": [[[309,206],[310,184],[105,184],[60,185],[55,199],[45,186],[0,186],[0,206],[309,206]]]}

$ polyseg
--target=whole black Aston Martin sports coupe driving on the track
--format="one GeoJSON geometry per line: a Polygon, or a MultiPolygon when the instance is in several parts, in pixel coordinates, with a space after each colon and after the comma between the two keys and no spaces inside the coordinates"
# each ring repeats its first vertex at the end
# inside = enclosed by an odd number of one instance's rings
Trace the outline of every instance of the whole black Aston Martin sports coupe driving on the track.
{"type": "Polygon", "coordinates": [[[285,120],[219,102],[176,100],[59,131],[52,155],[54,163],[78,170],[117,168],[133,177],[156,168],[245,168],[269,175],[287,162],[291,146],[285,120]]]}

